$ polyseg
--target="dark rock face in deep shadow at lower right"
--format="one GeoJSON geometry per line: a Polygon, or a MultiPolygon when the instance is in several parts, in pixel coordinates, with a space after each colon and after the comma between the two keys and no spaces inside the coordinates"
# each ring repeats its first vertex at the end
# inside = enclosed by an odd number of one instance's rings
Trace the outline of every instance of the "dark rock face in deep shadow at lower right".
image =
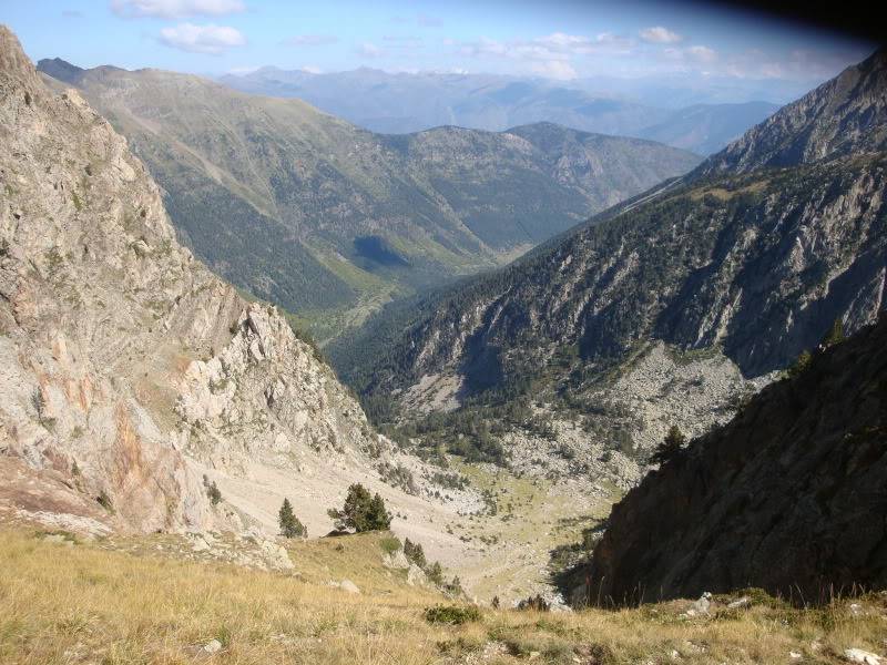
{"type": "Polygon", "coordinates": [[[620,502],[574,601],[887,584],[887,317],[765,388],[620,502]]]}

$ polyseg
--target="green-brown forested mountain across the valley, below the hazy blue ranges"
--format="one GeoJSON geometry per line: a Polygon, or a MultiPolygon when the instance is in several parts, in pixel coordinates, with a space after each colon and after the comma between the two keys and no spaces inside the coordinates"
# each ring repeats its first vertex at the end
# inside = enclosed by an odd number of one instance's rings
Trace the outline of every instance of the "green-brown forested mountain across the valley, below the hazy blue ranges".
{"type": "Polygon", "coordinates": [[[320,321],[322,337],[394,295],[500,265],[699,162],[555,125],[378,135],[196,76],[40,66],[128,137],[197,256],[320,321]]]}

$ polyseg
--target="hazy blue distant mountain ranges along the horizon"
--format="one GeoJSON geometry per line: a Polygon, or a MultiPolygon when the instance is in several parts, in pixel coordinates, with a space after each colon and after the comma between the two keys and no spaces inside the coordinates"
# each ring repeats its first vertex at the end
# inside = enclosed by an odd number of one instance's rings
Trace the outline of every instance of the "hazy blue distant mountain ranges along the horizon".
{"type": "MultiPolygon", "coordinates": [[[[410,133],[449,124],[498,132],[552,122],[651,139],[702,155],[721,150],[778,109],[759,101],[696,102],[673,109],[671,100],[691,93],[672,89],[656,100],[633,101],[638,93],[656,88],[657,82],[651,81],[628,90],[618,80],[559,83],[493,74],[392,74],[367,68],[315,74],[271,66],[220,81],[253,94],[298,98],[375,132],[410,133]],[[608,86],[618,92],[600,92],[608,86]]],[[[732,90],[735,93],[735,82],[732,90]]],[[[699,93],[691,99],[699,99],[699,93]]]]}

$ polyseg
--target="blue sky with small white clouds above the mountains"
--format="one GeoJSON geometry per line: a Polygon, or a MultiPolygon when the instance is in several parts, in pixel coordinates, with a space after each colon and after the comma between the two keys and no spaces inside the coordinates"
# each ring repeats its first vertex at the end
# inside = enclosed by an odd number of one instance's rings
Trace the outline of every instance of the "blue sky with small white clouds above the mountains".
{"type": "Polygon", "coordinates": [[[873,44],[701,3],[424,0],[2,0],[28,54],[203,74],[465,71],[809,82],[873,44]]]}

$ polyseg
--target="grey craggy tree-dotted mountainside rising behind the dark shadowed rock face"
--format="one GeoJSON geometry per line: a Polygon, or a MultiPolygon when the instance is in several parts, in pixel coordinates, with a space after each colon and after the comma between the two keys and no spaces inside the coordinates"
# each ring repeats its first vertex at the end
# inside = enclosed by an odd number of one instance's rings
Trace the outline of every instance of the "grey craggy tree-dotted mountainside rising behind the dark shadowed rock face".
{"type": "MultiPolygon", "coordinates": [[[[849,75],[883,66],[878,53],[849,75]]],[[[884,99],[884,86],[866,90],[884,99]]],[[[879,135],[883,117],[860,116],[859,135],[879,135]]],[[[695,434],[723,422],[835,319],[853,332],[885,306],[887,155],[861,143],[712,173],[761,131],[508,268],[377,317],[365,340],[334,347],[340,376],[367,400],[394,396],[401,413],[482,403],[502,418],[517,400],[641,460],[671,423],[695,434]]]]}

